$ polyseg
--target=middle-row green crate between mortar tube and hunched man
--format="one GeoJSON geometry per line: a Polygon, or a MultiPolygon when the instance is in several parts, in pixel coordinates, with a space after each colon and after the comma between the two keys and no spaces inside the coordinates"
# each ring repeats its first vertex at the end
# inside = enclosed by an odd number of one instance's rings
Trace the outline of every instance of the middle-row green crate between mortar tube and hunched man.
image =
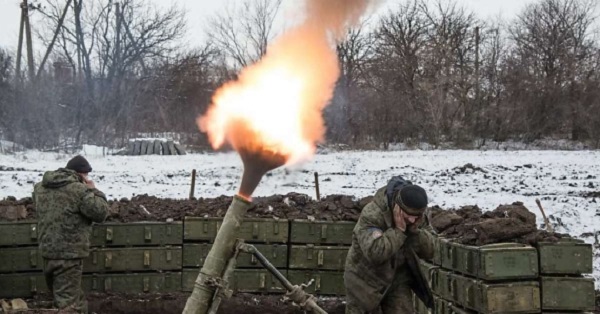
{"type": "Polygon", "coordinates": [[[292,245],[290,269],[344,270],[349,247],[292,245]]]}

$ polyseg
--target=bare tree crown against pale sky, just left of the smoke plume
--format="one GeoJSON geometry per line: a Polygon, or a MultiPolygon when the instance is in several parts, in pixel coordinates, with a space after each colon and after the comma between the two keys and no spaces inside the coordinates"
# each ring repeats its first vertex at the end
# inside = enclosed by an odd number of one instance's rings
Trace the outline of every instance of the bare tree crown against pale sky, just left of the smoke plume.
{"type": "Polygon", "coordinates": [[[244,0],[240,6],[229,3],[222,14],[208,25],[210,41],[234,68],[243,68],[258,61],[275,36],[274,22],[282,0],[244,0]]]}

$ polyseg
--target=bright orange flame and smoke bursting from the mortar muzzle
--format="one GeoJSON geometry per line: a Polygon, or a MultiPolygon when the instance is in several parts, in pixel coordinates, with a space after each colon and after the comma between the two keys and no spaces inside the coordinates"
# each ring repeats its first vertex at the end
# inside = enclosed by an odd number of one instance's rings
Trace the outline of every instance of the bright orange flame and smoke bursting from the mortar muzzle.
{"type": "Polygon", "coordinates": [[[238,152],[269,151],[288,164],[312,156],[324,138],[321,111],[339,75],[333,40],[358,21],[369,1],[308,0],[305,21],[217,90],[197,119],[213,148],[229,143],[238,152]]]}

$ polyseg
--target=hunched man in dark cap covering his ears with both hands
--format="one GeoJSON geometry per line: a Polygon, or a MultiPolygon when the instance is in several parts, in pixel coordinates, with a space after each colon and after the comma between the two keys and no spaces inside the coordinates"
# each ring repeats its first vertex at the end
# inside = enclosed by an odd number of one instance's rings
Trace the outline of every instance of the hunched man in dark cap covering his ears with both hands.
{"type": "Polygon", "coordinates": [[[412,293],[433,306],[417,256],[433,256],[433,235],[422,226],[427,193],[392,177],[367,204],[346,257],[346,313],[413,313],[412,293]]]}

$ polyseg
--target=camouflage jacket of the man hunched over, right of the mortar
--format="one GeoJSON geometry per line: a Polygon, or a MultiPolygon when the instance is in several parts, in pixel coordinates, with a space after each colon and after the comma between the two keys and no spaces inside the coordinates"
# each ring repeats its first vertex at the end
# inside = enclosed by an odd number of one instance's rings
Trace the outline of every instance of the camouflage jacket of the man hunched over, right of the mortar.
{"type": "Polygon", "coordinates": [[[346,294],[364,311],[377,309],[392,285],[412,288],[413,281],[420,277],[413,273],[418,269],[408,266],[408,248],[419,257],[433,257],[433,236],[429,232],[419,228],[405,233],[395,228],[386,189],[379,189],[363,208],[346,257],[346,294]]]}

